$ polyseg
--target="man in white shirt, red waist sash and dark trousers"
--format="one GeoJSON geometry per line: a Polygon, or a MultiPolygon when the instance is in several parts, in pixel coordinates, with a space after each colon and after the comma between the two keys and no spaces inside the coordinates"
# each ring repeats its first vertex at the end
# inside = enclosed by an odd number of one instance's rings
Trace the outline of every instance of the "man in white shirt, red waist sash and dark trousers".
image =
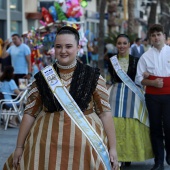
{"type": "Polygon", "coordinates": [[[151,170],[163,170],[164,148],[170,165],[170,47],[165,44],[164,29],[159,24],[150,27],[149,37],[153,46],[140,57],[135,81],[146,86],[145,100],[155,154],[151,170]]]}

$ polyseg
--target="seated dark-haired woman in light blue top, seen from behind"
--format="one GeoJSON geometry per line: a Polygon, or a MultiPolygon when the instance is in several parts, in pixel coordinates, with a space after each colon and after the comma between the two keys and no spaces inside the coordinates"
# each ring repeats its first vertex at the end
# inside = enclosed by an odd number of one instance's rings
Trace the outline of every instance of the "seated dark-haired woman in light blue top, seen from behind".
{"type": "MultiPolygon", "coordinates": [[[[0,92],[3,93],[4,99],[12,99],[12,95],[18,95],[20,93],[18,86],[13,80],[13,73],[14,68],[12,66],[7,66],[0,77],[0,92]]],[[[7,104],[7,107],[12,107],[12,105],[7,104]]],[[[10,124],[13,124],[14,126],[17,125],[15,116],[13,116],[10,124]]]]}

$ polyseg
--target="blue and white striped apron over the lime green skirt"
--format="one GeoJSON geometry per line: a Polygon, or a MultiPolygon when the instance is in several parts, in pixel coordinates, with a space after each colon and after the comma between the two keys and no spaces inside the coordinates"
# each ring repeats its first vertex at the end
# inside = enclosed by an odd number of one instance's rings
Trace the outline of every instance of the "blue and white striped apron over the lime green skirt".
{"type": "Polygon", "coordinates": [[[149,126],[148,111],[145,103],[124,83],[112,85],[109,92],[109,103],[113,117],[135,118],[149,126]]]}

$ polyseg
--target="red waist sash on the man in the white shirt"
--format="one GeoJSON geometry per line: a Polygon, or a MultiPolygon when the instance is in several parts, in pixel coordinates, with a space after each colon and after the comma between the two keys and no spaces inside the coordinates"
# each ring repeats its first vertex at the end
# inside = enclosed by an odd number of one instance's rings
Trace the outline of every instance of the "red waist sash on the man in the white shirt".
{"type": "Polygon", "coordinates": [[[153,86],[146,86],[146,94],[170,94],[170,77],[149,76],[149,80],[155,80],[156,78],[163,79],[163,87],[157,88],[153,86]]]}

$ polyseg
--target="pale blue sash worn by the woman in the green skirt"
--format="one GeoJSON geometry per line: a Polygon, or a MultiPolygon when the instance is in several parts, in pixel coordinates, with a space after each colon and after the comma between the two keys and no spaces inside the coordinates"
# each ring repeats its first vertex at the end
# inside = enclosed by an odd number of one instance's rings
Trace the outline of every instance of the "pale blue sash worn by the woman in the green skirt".
{"type": "Polygon", "coordinates": [[[110,61],[119,76],[119,78],[125,83],[126,86],[128,86],[135,94],[137,94],[140,98],[140,100],[145,103],[145,97],[143,93],[140,91],[140,89],[135,85],[135,83],[129,78],[129,76],[122,70],[120,67],[120,64],[118,62],[117,56],[113,56],[110,58],[110,61]]]}

